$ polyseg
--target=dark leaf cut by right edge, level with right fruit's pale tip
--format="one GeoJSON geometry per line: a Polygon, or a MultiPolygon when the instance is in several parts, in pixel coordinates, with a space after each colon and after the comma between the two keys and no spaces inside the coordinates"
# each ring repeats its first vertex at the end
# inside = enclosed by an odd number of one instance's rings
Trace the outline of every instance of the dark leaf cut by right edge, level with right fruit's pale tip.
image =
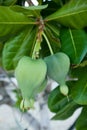
{"type": "Polygon", "coordinates": [[[70,84],[73,100],[81,105],[87,105],[87,66],[72,70],[73,78],[78,79],[70,84]]]}

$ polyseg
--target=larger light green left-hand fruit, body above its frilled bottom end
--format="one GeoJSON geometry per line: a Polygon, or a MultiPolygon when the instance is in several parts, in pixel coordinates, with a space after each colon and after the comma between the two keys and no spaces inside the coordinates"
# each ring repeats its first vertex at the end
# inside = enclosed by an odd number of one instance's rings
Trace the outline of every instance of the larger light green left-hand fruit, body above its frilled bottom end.
{"type": "Polygon", "coordinates": [[[32,59],[27,56],[20,59],[15,70],[15,76],[24,100],[34,98],[46,80],[46,73],[47,66],[44,60],[32,59]]]}

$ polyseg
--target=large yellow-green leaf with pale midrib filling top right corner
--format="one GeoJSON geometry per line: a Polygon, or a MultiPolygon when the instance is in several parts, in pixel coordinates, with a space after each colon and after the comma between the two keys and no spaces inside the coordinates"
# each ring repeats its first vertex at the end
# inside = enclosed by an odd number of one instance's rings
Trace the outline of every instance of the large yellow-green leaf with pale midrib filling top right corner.
{"type": "Polygon", "coordinates": [[[56,20],[68,27],[83,28],[87,26],[87,0],[71,0],[46,20],[56,20]]]}

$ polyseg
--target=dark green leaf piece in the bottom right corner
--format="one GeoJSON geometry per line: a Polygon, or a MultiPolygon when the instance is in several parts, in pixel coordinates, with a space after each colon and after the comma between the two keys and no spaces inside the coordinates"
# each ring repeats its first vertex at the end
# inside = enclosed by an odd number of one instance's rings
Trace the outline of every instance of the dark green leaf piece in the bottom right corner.
{"type": "Polygon", "coordinates": [[[87,106],[83,108],[76,121],[76,130],[87,130],[87,106]]]}

